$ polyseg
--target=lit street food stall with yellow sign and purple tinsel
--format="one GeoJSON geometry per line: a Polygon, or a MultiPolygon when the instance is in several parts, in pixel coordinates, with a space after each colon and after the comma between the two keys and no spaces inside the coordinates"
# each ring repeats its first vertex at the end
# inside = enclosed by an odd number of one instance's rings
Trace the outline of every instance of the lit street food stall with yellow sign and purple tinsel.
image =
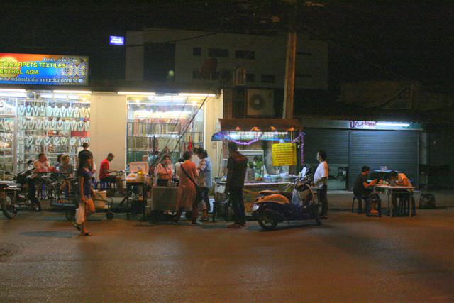
{"type": "Polygon", "coordinates": [[[296,119],[218,119],[216,133],[211,137],[211,141],[223,141],[215,199],[226,199],[223,191],[229,141],[235,142],[238,151],[248,158],[244,201],[249,212],[259,191],[283,189],[297,177],[297,169],[304,162],[302,130],[296,119]]]}

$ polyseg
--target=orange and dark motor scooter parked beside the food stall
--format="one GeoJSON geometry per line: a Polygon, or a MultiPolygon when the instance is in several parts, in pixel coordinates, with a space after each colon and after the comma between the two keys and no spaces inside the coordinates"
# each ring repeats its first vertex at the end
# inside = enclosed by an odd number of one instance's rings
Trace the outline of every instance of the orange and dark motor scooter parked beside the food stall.
{"type": "MultiPolygon", "coordinates": [[[[287,185],[292,192],[264,190],[258,193],[253,205],[253,215],[265,231],[272,231],[278,223],[294,220],[312,219],[317,225],[320,205],[315,202],[315,194],[311,189],[311,175],[303,169],[302,176],[287,185]]],[[[284,189],[285,189],[284,188],[284,189]]]]}

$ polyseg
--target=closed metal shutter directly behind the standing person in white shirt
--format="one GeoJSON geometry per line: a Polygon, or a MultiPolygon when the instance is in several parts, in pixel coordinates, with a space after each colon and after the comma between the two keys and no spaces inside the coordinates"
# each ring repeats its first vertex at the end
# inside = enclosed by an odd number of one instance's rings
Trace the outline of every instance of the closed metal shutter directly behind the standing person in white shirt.
{"type": "Polygon", "coordinates": [[[325,150],[328,165],[348,165],[348,131],[306,128],[304,130],[304,160],[317,164],[317,151],[325,150]]]}

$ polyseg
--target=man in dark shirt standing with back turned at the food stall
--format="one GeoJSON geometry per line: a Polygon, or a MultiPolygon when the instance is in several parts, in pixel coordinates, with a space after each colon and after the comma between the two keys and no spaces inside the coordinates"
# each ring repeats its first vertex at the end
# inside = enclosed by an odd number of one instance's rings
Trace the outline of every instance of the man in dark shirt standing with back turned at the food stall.
{"type": "Polygon", "coordinates": [[[238,145],[234,142],[228,143],[228,153],[230,157],[228,157],[227,161],[226,192],[230,194],[230,201],[235,216],[235,223],[228,227],[241,228],[246,226],[243,187],[248,158],[238,153],[238,145]]]}

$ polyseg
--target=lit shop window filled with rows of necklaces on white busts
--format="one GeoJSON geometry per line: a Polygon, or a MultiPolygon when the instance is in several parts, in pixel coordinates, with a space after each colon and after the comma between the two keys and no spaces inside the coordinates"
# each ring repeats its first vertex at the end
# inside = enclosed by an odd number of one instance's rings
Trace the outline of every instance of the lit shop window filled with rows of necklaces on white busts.
{"type": "Polygon", "coordinates": [[[18,170],[38,153],[45,153],[51,165],[59,154],[75,164],[77,149],[90,141],[89,94],[27,92],[17,99],[16,109],[18,170]]]}

